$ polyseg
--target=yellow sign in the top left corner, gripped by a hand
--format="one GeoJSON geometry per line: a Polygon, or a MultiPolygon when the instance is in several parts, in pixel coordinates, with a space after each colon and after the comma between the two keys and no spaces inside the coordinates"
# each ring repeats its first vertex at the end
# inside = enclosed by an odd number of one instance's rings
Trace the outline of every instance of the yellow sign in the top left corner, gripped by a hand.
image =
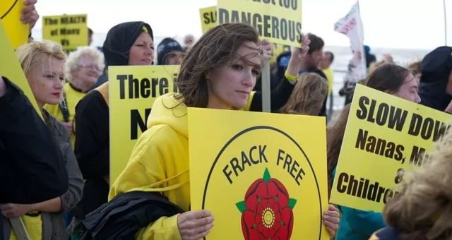
{"type": "Polygon", "coordinates": [[[0,2],[0,19],[4,25],[8,38],[13,45],[13,49],[17,49],[20,45],[28,42],[29,24],[23,24],[20,21],[25,0],[2,0],[0,2]]]}

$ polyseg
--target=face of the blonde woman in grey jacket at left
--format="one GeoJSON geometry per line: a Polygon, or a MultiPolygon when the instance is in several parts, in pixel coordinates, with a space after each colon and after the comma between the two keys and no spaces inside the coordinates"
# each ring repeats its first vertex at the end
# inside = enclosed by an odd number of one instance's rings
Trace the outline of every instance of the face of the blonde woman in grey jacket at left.
{"type": "Polygon", "coordinates": [[[40,109],[44,104],[58,104],[63,89],[64,63],[54,58],[45,59],[27,75],[30,88],[40,109]]]}

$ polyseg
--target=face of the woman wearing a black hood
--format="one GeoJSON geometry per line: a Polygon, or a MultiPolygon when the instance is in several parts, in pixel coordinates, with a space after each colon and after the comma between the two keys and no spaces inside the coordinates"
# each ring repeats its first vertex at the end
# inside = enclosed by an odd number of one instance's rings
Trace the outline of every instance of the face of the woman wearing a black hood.
{"type": "Polygon", "coordinates": [[[129,52],[129,66],[151,65],[154,61],[154,41],[149,33],[141,35],[133,43],[129,52]]]}

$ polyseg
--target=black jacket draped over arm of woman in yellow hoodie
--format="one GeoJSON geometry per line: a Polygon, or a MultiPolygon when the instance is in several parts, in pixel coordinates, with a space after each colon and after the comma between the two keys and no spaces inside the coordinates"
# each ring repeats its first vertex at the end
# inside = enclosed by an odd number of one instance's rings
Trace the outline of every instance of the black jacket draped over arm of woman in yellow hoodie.
{"type": "Polygon", "coordinates": [[[132,240],[139,229],[151,222],[182,212],[160,193],[121,193],[86,216],[83,224],[87,231],[81,240],[132,240]]]}

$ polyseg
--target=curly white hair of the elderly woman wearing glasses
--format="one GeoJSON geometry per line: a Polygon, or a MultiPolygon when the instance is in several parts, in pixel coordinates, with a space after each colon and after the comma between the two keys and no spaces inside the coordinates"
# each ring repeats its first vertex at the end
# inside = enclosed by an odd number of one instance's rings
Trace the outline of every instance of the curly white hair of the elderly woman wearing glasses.
{"type": "Polygon", "coordinates": [[[97,68],[102,71],[105,68],[104,54],[95,47],[78,47],[76,51],[71,52],[66,60],[66,66],[64,68],[64,76],[69,82],[72,81],[73,76],[71,71],[80,68],[80,58],[82,56],[90,56],[97,61],[97,68]]]}

